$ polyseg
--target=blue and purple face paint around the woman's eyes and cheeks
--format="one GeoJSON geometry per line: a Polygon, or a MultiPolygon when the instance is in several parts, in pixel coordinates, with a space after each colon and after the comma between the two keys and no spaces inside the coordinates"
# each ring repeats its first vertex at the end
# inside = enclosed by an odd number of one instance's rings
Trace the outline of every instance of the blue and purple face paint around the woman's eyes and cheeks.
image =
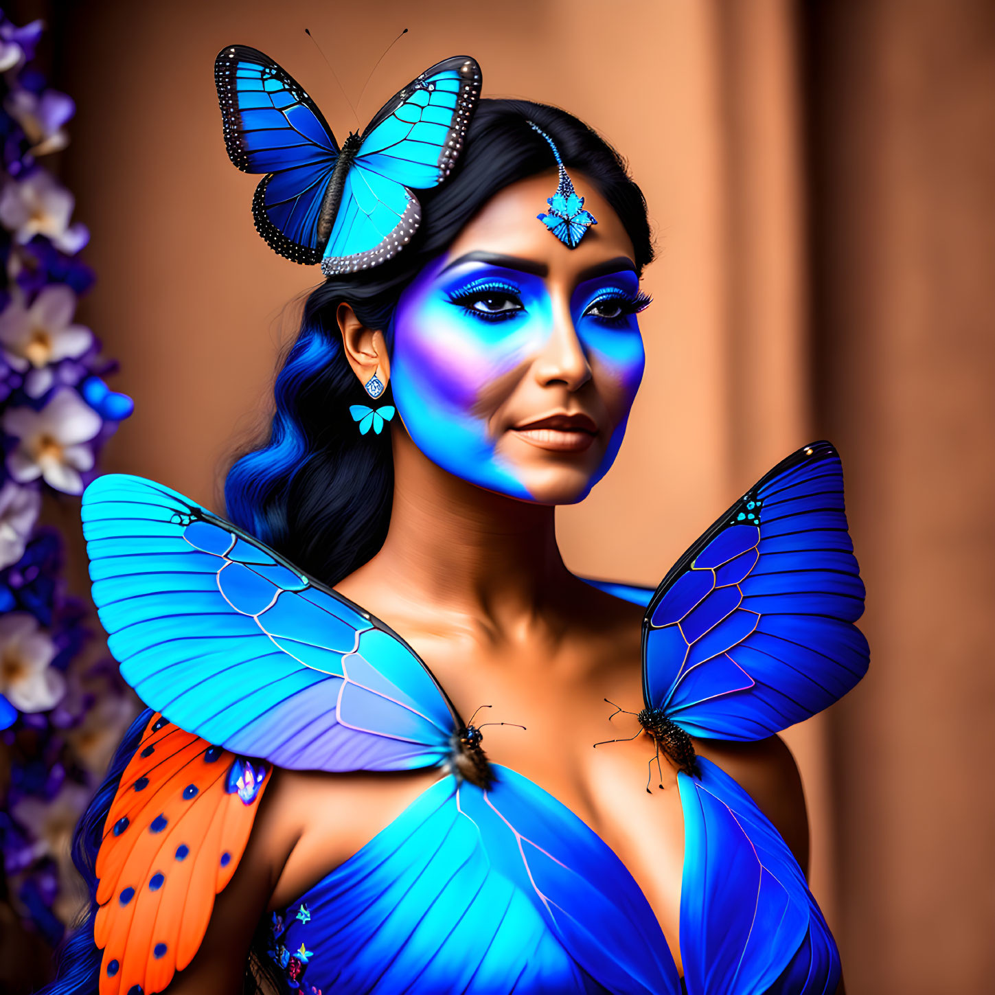
{"type": "Polygon", "coordinates": [[[398,414],[415,445],[457,477],[544,500],[559,471],[572,475],[579,500],[622,442],[644,366],[636,312],[648,298],[630,270],[578,285],[569,314],[557,313],[543,277],[476,256],[435,261],[398,302],[390,366],[398,414]],[[578,347],[590,377],[575,393],[537,374],[537,361],[553,368],[558,350],[578,347]],[[515,426],[567,406],[597,424],[589,451],[551,452],[517,438],[515,426]]]}

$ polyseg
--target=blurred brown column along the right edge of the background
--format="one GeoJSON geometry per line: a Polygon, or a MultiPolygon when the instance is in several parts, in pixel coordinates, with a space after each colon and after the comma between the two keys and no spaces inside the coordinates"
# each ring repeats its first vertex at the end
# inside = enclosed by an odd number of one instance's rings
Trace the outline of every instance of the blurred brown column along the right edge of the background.
{"type": "Polygon", "coordinates": [[[835,713],[851,995],[995,978],[995,5],[807,8],[819,427],[868,679],[835,713]]]}

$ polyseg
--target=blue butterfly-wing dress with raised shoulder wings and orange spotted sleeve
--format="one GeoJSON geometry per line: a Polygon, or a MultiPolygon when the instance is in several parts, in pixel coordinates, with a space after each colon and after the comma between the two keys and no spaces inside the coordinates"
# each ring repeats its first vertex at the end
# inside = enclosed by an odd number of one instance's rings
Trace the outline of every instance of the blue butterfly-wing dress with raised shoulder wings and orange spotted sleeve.
{"type": "MultiPolygon", "coordinates": [[[[150,481],[100,478],[84,528],[110,651],[156,710],[104,827],[101,995],[161,991],[190,962],[273,766],[439,772],[274,916],[271,954],[292,988],[835,991],[839,957],[801,869],[717,766],[697,758],[678,775],[682,981],[620,859],[541,787],[491,763],[387,626],[150,481]]],[[[839,458],[814,444],[716,521],[653,595],[644,725],[666,747],[665,722],[743,740],[813,714],[867,667],[853,625],[862,605],[839,458]]]]}

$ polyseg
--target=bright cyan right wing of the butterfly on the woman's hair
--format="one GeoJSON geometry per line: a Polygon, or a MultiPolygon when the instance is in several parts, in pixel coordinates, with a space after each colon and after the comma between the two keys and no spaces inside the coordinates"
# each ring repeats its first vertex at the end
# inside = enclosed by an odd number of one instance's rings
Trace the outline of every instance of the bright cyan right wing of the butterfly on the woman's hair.
{"type": "Polygon", "coordinates": [[[410,241],[421,221],[411,191],[449,175],[480,93],[480,67],[455,56],[427,69],[380,108],[346,174],[323,273],[375,266],[410,241]]]}

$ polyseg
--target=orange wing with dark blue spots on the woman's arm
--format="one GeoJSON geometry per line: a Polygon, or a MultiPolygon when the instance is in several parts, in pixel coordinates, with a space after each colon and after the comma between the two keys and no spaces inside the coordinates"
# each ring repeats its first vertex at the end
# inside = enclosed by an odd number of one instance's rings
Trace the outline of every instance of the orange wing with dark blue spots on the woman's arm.
{"type": "Polygon", "coordinates": [[[97,856],[100,995],[162,991],[197,952],[249,840],[269,769],[154,714],[97,856]]]}

